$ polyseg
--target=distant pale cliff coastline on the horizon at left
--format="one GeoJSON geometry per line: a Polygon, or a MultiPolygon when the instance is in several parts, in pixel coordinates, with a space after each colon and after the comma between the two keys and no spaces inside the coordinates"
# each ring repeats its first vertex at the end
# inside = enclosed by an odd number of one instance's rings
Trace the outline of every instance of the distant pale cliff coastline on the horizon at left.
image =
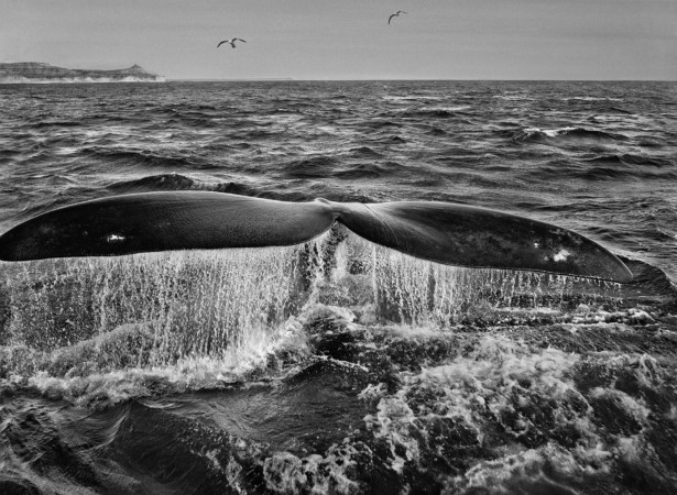
{"type": "Polygon", "coordinates": [[[68,69],[42,62],[0,64],[0,84],[165,82],[139,65],[114,70],[68,69]]]}

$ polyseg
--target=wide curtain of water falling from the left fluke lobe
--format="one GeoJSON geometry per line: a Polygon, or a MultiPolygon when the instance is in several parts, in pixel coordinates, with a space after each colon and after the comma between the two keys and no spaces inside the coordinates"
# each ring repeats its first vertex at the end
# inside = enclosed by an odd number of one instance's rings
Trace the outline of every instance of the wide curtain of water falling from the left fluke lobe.
{"type": "Polygon", "coordinates": [[[2,367],[73,376],[205,359],[233,364],[233,354],[274,340],[295,312],[302,250],[23,264],[4,284],[2,367]]]}

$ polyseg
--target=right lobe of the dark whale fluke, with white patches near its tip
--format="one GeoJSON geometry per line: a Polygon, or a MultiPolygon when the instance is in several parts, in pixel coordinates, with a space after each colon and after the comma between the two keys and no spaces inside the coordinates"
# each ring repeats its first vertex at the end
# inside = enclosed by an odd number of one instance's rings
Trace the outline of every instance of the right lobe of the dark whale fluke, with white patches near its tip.
{"type": "Polygon", "coordinates": [[[523,270],[627,283],[615,255],[567,229],[447,202],[351,205],[338,219],[358,235],[447,265],[523,270]]]}

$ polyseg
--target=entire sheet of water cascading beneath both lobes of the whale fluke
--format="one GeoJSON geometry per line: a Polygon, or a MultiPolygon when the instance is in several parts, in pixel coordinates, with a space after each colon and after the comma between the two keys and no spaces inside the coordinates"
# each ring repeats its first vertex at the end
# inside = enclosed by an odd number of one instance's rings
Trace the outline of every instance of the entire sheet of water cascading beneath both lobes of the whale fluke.
{"type": "Polygon", "coordinates": [[[502,308],[559,306],[575,285],[592,284],[439,265],[342,228],[287,248],[47,260],[2,270],[0,343],[12,350],[6,373],[66,376],[222,360],[274,340],[290,318],[316,304],[358,308],[376,322],[444,327],[502,308]]]}

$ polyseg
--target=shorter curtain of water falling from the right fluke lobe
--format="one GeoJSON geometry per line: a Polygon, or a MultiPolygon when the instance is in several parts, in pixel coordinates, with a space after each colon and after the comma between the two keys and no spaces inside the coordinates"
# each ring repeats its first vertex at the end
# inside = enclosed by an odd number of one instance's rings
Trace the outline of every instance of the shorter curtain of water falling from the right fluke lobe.
{"type": "Polygon", "coordinates": [[[371,253],[374,304],[379,319],[386,321],[433,327],[488,322],[511,310],[559,311],[602,296],[613,299],[620,289],[615,283],[565,275],[441,265],[352,241],[345,244],[352,257],[365,257],[354,251],[371,253]]]}

